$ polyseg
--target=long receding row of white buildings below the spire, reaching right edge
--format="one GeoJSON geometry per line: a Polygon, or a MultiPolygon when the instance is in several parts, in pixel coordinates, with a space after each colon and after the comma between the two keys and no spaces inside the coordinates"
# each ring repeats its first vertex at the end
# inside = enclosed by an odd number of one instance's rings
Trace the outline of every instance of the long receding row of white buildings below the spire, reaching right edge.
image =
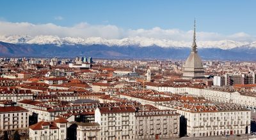
{"type": "Polygon", "coordinates": [[[230,90],[225,87],[211,87],[211,88],[198,88],[198,87],[184,87],[173,85],[146,85],[148,89],[156,90],[158,92],[171,92],[173,94],[189,94],[200,97],[205,97],[211,101],[217,102],[230,102],[241,104],[256,112],[256,95],[248,93],[239,93],[235,90],[230,90]]]}

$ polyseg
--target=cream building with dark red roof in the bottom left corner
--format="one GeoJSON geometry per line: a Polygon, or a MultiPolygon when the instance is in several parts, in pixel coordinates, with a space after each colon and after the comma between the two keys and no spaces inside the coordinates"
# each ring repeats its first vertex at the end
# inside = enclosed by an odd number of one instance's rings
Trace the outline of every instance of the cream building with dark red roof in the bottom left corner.
{"type": "Polygon", "coordinates": [[[28,110],[19,106],[0,107],[0,136],[7,131],[13,135],[17,130],[20,134],[28,133],[28,110]]]}

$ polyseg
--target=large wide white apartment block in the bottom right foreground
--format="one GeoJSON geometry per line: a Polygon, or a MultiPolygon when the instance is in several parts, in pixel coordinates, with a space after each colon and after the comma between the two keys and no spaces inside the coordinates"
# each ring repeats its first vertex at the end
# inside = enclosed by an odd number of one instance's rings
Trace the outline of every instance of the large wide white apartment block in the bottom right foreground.
{"type": "Polygon", "coordinates": [[[189,137],[250,133],[251,111],[241,106],[182,108],[177,103],[164,103],[159,109],[175,109],[181,115],[180,127],[189,137]]]}

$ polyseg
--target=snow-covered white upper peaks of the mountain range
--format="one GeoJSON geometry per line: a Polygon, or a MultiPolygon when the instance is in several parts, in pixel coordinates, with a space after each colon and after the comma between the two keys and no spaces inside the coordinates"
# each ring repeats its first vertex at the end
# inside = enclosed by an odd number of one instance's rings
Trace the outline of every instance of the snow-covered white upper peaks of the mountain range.
{"type": "MultiPolygon", "coordinates": [[[[192,41],[173,41],[170,39],[154,39],[145,37],[135,37],[135,38],[123,38],[123,39],[104,39],[104,38],[60,38],[58,36],[0,36],[0,41],[6,43],[14,44],[36,44],[36,45],[107,45],[107,46],[160,46],[163,48],[170,47],[189,47],[192,41]]],[[[223,50],[228,50],[232,48],[237,48],[241,46],[248,46],[251,48],[256,48],[256,41],[249,42],[239,42],[232,40],[221,40],[221,41],[198,41],[198,48],[221,48],[223,50]]]]}

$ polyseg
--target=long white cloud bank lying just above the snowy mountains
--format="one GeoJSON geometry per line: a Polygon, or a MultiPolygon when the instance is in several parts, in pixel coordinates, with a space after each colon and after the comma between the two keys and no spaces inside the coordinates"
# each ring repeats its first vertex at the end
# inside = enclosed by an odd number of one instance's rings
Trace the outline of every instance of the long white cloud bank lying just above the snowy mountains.
{"type": "MultiPolygon", "coordinates": [[[[91,25],[86,22],[76,24],[72,27],[64,27],[55,24],[31,24],[28,22],[0,22],[0,35],[51,35],[60,36],[60,38],[90,38],[100,37],[105,39],[123,39],[123,38],[154,38],[167,39],[172,41],[191,42],[193,31],[182,31],[180,29],[161,29],[154,27],[152,29],[122,29],[115,25],[91,25]]],[[[236,34],[219,34],[217,32],[196,32],[197,41],[256,41],[255,36],[244,32],[236,34]]]]}

